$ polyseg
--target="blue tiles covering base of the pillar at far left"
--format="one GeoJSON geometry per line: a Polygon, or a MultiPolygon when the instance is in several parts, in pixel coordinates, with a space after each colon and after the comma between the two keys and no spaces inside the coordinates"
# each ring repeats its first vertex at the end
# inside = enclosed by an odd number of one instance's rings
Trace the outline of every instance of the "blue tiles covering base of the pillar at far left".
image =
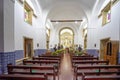
{"type": "Polygon", "coordinates": [[[0,74],[7,72],[7,64],[15,65],[15,52],[0,53],[0,74]]]}

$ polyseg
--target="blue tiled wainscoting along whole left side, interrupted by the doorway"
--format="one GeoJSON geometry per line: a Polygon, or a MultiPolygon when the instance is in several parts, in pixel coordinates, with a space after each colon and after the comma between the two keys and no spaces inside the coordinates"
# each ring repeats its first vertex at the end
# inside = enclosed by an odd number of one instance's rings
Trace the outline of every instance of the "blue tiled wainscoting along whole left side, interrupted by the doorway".
{"type": "MultiPolygon", "coordinates": [[[[46,52],[46,49],[37,49],[34,52],[34,56],[38,56],[46,52]]],[[[15,65],[15,61],[24,58],[23,50],[16,50],[14,52],[0,52],[0,74],[7,73],[7,64],[12,63],[15,65]]]]}

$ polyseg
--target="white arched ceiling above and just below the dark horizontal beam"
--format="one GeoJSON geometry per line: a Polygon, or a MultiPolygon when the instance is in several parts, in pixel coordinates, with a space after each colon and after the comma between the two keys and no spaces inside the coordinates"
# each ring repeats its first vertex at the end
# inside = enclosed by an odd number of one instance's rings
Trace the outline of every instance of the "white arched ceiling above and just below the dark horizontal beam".
{"type": "MultiPolygon", "coordinates": [[[[42,11],[47,12],[49,20],[88,20],[97,0],[38,0],[42,11]]],[[[44,14],[44,13],[43,13],[44,14]]],[[[53,26],[57,26],[52,22],[53,26]]],[[[60,22],[59,24],[71,24],[80,26],[81,22],[60,22]]]]}

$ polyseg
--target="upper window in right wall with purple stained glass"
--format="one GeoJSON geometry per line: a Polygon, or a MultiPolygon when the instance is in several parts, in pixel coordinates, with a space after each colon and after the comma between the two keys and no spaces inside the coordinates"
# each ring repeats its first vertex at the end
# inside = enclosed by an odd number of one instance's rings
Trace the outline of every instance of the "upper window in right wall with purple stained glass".
{"type": "Polygon", "coordinates": [[[102,25],[111,21],[111,2],[102,10],[102,25]]]}

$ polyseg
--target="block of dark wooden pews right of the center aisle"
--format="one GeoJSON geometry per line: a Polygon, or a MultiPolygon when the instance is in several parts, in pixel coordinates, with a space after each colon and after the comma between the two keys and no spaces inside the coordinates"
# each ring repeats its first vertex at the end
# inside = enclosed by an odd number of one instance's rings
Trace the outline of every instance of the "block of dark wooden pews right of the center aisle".
{"type": "Polygon", "coordinates": [[[72,56],[74,80],[120,80],[120,65],[93,56],[72,56]]]}

